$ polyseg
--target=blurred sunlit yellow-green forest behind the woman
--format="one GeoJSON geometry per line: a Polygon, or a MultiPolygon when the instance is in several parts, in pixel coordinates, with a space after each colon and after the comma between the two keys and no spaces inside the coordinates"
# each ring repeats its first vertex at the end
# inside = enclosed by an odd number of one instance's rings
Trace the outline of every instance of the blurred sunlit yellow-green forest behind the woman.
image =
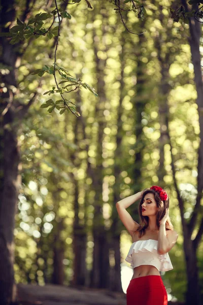
{"type": "MultiPolygon", "coordinates": [[[[130,31],[145,32],[143,35],[126,30],[112,1],[92,0],[92,8],[86,1],[65,4],[72,18],[61,23],[56,63],[98,94],[96,97],[85,88],[67,94],[80,116],[70,111],[60,114],[57,108],[49,113],[40,107],[48,100],[43,94],[55,86],[55,81],[52,75],[31,73],[53,65],[54,37],[39,36],[11,45],[18,54],[13,70],[2,57],[1,92],[10,97],[12,93],[9,107],[13,107],[14,118],[13,127],[7,121],[4,130],[16,136],[13,156],[19,155],[18,163],[14,158],[18,172],[14,183],[15,250],[13,241],[8,250],[14,251],[16,283],[122,291],[130,280],[128,273],[121,283],[122,268],[129,269],[124,259],[131,237],[118,218],[115,204],[159,185],[170,195],[170,218],[179,234],[170,252],[174,269],[161,272],[168,299],[188,299],[189,304],[188,293],[192,293],[196,277],[199,290],[195,290],[198,297],[193,304],[199,304],[203,295],[203,211],[199,195],[202,108],[197,103],[191,58],[191,24],[171,18],[170,8],[179,3],[145,1],[147,18],[142,19],[133,11],[123,12],[130,31]],[[8,84],[5,80],[11,70],[15,83],[8,84]],[[28,107],[18,124],[15,114],[18,117],[21,105],[28,107]]],[[[27,4],[30,15],[54,9],[53,1],[46,5],[40,0],[13,4],[21,20],[27,18],[27,4]]],[[[64,1],[58,4],[64,6],[64,1]]],[[[58,25],[57,17],[53,25],[58,25]]],[[[201,24],[196,26],[201,28],[201,24]]],[[[201,56],[202,41],[199,36],[201,56]]],[[[202,90],[202,77],[199,85],[202,90]]],[[[57,99],[55,94],[53,100],[57,99]]],[[[3,114],[7,100],[8,96],[1,105],[3,114]]],[[[4,143],[1,149],[11,157],[12,149],[6,147],[9,140],[4,143]]],[[[4,154],[1,157],[6,160],[4,154]]],[[[11,173],[9,170],[11,167],[11,173]]],[[[138,204],[128,208],[137,222],[138,204]]],[[[3,206],[2,201],[2,219],[6,215],[3,206]]],[[[12,231],[6,217],[5,222],[12,231]]]]}

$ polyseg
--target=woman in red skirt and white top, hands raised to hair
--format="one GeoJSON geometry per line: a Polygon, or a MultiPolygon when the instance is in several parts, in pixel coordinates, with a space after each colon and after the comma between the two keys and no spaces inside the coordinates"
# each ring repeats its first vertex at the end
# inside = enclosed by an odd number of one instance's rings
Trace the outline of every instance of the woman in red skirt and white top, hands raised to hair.
{"type": "Polygon", "coordinates": [[[168,216],[168,207],[169,197],[158,186],[116,203],[119,217],[132,237],[125,259],[133,267],[126,291],[127,305],[167,305],[167,292],[159,271],[173,269],[168,252],[178,238],[168,216]],[[126,211],[139,199],[140,224],[126,211]]]}

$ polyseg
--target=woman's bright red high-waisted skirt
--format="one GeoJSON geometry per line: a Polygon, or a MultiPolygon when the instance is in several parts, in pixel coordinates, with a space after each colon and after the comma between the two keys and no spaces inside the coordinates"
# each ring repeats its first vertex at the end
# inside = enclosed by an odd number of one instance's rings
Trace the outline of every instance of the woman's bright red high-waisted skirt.
{"type": "Polygon", "coordinates": [[[167,305],[167,292],[160,276],[132,279],[126,291],[127,305],[167,305]]]}

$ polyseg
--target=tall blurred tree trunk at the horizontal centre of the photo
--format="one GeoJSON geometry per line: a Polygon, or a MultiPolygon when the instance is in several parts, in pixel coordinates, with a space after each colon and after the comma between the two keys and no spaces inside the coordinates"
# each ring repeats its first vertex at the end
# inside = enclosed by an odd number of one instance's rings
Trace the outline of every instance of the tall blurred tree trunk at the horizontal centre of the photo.
{"type": "MultiPolygon", "coordinates": [[[[103,15],[103,20],[106,16],[103,15]]],[[[105,24],[102,25],[103,35],[105,33],[105,24]]],[[[105,230],[104,217],[103,217],[103,137],[104,128],[104,110],[106,102],[105,94],[105,67],[106,60],[98,58],[98,37],[93,31],[94,35],[94,56],[96,60],[96,73],[97,73],[97,93],[99,101],[96,103],[95,118],[97,119],[97,135],[96,135],[96,168],[94,168],[93,187],[95,190],[94,198],[94,218],[93,218],[93,268],[91,271],[91,287],[95,288],[109,288],[110,264],[109,264],[109,242],[107,230],[105,230]]],[[[106,49],[107,52],[107,49],[106,49]]]]}

